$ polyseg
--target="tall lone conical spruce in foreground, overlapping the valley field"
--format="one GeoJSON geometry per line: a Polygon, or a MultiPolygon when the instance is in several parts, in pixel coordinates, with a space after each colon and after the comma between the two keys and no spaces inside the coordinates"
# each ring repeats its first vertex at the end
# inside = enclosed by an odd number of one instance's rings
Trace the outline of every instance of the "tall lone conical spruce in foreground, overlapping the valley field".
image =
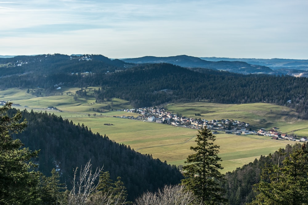
{"type": "Polygon", "coordinates": [[[198,132],[197,146],[190,147],[196,153],[189,155],[185,161],[187,165],[183,167],[185,179],[182,179],[182,184],[193,191],[200,204],[224,203],[224,190],[219,185],[219,181],[224,179],[219,171],[223,169],[218,163],[221,161],[219,146],[213,144],[215,136],[209,129],[203,128],[198,132]]]}

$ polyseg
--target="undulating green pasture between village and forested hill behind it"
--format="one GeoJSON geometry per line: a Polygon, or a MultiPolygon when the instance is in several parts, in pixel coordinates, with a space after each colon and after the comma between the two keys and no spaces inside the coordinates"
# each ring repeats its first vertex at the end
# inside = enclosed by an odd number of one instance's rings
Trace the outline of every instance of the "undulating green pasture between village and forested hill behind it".
{"type": "MultiPolygon", "coordinates": [[[[182,116],[206,120],[233,119],[249,123],[258,128],[272,129],[278,127],[281,132],[308,127],[307,120],[296,118],[293,109],[267,103],[218,104],[218,103],[173,103],[166,107],[168,111],[182,116]],[[201,116],[195,116],[201,114],[201,116]],[[294,117],[292,117],[294,116],[294,117]]],[[[307,135],[308,136],[308,132],[307,135]]]]}

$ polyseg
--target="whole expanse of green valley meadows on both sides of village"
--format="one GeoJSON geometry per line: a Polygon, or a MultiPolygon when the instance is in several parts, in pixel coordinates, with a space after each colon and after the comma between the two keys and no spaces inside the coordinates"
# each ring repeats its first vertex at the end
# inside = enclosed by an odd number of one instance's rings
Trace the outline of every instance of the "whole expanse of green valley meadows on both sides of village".
{"type": "MultiPolygon", "coordinates": [[[[167,161],[169,164],[184,165],[186,157],[191,154],[190,146],[195,145],[197,130],[174,127],[171,125],[143,122],[116,118],[113,116],[137,116],[136,113],[123,111],[109,111],[111,108],[132,108],[129,102],[121,99],[112,99],[104,103],[95,103],[91,97],[94,87],[87,88],[87,98],[78,97],[74,100],[73,94],[78,88],[63,88],[61,95],[36,97],[27,93],[26,89],[7,89],[0,91],[0,100],[12,101],[20,104],[19,109],[33,109],[42,112],[51,112],[61,115],[63,118],[72,120],[75,124],[85,124],[91,131],[106,134],[111,140],[120,144],[129,145],[141,153],[152,154],[153,158],[167,161]],[[25,107],[27,106],[27,107],[25,107]],[[48,110],[48,106],[57,107],[59,111],[48,110]],[[104,112],[93,112],[94,109],[101,109],[104,112]],[[96,116],[93,116],[93,114],[96,116]],[[88,116],[90,114],[90,116],[88,116]],[[113,125],[104,125],[113,124],[113,125]]],[[[98,89],[98,88],[96,88],[98,89]]],[[[233,119],[249,123],[252,128],[271,129],[278,127],[281,132],[289,132],[298,136],[308,136],[307,120],[299,120],[295,117],[294,110],[284,106],[273,104],[215,104],[215,103],[178,103],[165,106],[168,111],[180,113],[182,116],[213,119],[233,119]],[[195,116],[195,113],[201,116],[195,116]]],[[[215,134],[216,144],[220,145],[220,154],[223,172],[233,171],[237,167],[252,162],[261,155],[268,155],[286,144],[293,144],[293,141],[271,140],[265,136],[236,136],[225,133],[215,134]]]]}

